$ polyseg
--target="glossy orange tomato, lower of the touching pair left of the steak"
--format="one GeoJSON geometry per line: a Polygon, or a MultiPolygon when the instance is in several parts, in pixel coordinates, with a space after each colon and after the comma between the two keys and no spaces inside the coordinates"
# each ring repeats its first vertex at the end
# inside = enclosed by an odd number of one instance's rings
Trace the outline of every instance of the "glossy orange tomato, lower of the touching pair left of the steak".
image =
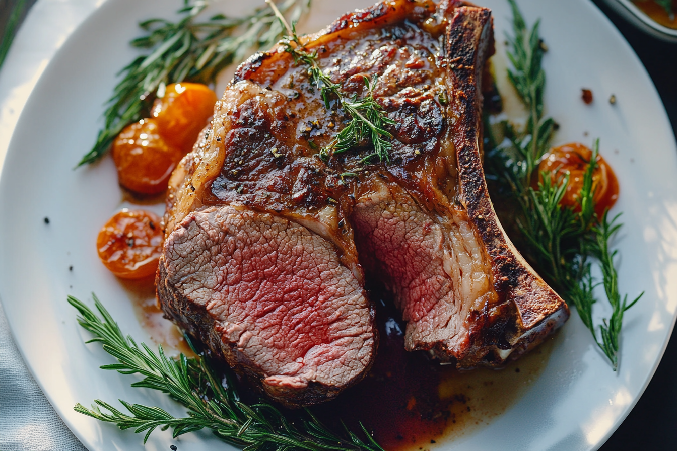
{"type": "Polygon", "coordinates": [[[113,143],[113,161],[123,187],[141,194],[157,194],[167,189],[169,176],[183,156],[158,133],[152,119],[128,125],[113,143]]]}

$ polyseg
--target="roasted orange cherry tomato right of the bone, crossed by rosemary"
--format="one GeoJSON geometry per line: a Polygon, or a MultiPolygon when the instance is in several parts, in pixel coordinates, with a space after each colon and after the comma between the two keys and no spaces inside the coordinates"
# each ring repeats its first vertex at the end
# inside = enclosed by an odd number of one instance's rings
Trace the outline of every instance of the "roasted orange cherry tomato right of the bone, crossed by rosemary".
{"type": "MultiPolygon", "coordinates": [[[[569,185],[562,198],[562,205],[580,208],[577,197],[583,187],[583,178],[590,158],[592,150],[579,143],[570,143],[551,149],[539,164],[538,172],[550,172],[552,181],[569,173],[569,185]]],[[[597,156],[597,167],[592,172],[592,189],[595,212],[601,218],[604,210],[616,203],[619,187],[616,174],[600,155],[597,156]]]]}

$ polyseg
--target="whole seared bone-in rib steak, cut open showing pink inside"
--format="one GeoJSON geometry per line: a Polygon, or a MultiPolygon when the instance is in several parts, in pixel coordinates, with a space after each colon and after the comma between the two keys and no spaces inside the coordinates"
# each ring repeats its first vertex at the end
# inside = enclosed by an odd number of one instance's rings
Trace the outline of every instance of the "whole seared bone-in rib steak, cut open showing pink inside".
{"type": "Polygon", "coordinates": [[[395,125],[389,161],[318,157],[345,126],[281,46],[242,64],[170,181],[158,298],[167,316],[287,406],[328,400],[374,360],[365,277],[392,291],[406,348],[498,365],[569,316],[506,237],[487,193],[487,8],[388,0],[303,38],[344,97],[395,125]],[[366,273],[366,276],[365,276],[366,273]]]}

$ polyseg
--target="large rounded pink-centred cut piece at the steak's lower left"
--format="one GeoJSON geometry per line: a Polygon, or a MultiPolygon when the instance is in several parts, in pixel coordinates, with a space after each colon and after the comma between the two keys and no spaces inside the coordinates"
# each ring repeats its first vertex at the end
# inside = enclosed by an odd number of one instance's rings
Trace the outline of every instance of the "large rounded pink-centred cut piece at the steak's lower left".
{"type": "Polygon", "coordinates": [[[361,285],[331,243],[284,218],[236,206],[189,214],[160,280],[165,311],[274,398],[331,398],[371,362],[361,285]]]}

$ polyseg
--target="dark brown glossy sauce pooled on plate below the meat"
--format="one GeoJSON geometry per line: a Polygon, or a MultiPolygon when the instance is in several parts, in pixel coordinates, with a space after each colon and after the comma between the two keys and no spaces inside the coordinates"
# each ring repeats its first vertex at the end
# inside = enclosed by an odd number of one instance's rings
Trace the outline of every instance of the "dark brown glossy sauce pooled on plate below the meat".
{"type": "MultiPolygon", "coordinates": [[[[372,299],[378,293],[372,291],[372,299]]],[[[387,451],[429,450],[487,425],[538,379],[545,368],[552,338],[504,369],[457,371],[431,362],[423,352],[404,350],[405,325],[387,293],[377,302],[380,343],[372,371],[334,401],[312,408],[340,431],[341,420],[352,431],[359,421],[374,432],[387,451]]]]}

